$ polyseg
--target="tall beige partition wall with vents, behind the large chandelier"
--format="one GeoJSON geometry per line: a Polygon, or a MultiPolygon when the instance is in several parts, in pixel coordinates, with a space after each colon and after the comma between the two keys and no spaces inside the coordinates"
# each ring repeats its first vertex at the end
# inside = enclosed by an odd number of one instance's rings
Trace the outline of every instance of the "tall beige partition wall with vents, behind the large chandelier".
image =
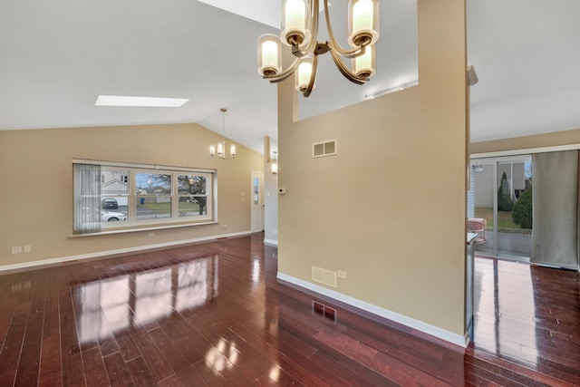
{"type": "Polygon", "coordinates": [[[293,122],[280,85],[279,271],[313,284],[312,266],[345,271],[331,290],[463,336],[465,4],[418,12],[419,86],[293,122]],[[333,139],[338,155],[312,159],[333,139]]]}

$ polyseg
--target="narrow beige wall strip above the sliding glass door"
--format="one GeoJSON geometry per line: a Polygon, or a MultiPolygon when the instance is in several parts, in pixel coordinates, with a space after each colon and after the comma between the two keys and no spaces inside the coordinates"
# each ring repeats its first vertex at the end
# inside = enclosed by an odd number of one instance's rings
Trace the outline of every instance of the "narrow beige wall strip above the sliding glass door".
{"type": "Polygon", "coordinates": [[[580,129],[556,131],[553,133],[536,134],[513,139],[474,142],[469,145],[469,152],[476,154],[504,150],[528,150],[570,144],[580,144],[580,129]]]}

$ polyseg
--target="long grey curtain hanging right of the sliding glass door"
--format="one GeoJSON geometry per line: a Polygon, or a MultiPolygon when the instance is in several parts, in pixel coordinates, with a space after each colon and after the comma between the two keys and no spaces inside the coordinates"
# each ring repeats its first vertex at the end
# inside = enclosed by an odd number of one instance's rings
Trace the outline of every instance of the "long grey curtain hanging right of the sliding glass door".
{"type": "Polygon", "coordinates": [[[578,268],[578,150],[532,155],[530,261],[578,268]]]}

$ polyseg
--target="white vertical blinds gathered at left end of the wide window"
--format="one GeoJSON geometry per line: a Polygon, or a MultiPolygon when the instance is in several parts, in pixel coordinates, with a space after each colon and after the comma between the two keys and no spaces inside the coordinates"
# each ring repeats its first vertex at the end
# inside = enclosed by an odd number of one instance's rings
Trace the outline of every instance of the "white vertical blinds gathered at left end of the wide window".
{"type": "Polygon", "coordinates": [[[101,166],[74,164],[74,234],[101,231],[101,166]]]}

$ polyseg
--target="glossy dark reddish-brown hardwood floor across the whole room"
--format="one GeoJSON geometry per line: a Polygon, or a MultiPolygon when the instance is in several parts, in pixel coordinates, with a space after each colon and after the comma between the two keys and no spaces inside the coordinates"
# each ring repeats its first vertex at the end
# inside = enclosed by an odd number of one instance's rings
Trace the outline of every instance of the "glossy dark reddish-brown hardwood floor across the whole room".
{"type": "Polygon", "coordinates": [[[263,237],[0,276],[0,386],[580,385],[576,272],[477,258],[464,351],[313,307],[263,237]]]}

